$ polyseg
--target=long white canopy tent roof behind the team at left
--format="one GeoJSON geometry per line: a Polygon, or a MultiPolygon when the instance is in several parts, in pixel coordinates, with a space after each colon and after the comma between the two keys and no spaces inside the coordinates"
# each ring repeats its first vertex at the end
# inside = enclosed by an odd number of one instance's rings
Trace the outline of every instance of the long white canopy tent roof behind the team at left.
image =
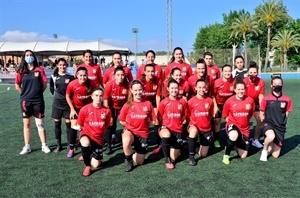
{"type": "Polygon", "coordinates": [[[129,55],[128,48],[116,47],[101,43],[100,41],[91,42],[0,42],[0,55],[21,56],[25,50],[30,49],[41,56],[51,55],[82,55],[83,51],[89,49],[94,56],[108,55],[116,51],[129,55]]]}

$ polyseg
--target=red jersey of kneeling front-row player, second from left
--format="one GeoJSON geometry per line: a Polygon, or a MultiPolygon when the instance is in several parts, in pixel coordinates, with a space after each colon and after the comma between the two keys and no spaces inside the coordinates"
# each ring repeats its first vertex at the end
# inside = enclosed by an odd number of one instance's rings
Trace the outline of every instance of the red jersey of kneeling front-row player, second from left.
{"type": "Polygon", "coordinates": [[[126,122],[125,128],[142,138],[149,138],[149,121],[155,121],[156,115],[149,101],[135,102],[122,107],[119,120],[126,122]]]}

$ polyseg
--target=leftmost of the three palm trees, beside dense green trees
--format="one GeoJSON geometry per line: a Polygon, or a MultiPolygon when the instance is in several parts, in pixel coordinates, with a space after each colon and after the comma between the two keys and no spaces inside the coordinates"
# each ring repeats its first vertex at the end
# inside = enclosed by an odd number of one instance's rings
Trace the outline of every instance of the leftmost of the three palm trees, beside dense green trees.
{"type": "Polygon", "coordinates": [[[245,65],[247,65],[247,38],[246,36],[253,32],[259,34],[261,31],[258,28],[257,21],[253,20],[253,17],[249,13],[240,15],[238,18],[235,18],[232,22],[230,28],[232,29],[231,37],[237,37],[238,35],[243,36],[244,40],[244,51],[245,51],[245,65]]]}

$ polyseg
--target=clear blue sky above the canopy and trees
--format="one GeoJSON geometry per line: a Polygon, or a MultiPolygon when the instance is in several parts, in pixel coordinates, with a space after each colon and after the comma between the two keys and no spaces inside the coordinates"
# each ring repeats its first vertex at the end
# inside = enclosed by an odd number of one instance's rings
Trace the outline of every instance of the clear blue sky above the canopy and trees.
{"type": "MultiPolygon", "coordinates": [[[[300,1],[284,0],[300,18],[300,1]]],[[[192,51],[200,27],[222,22],[222,13],[251,14],[262,0],[173,0],[173,48],[192,51]]],[[[0,41],[100,40],[135,50],[132,28],[139,29],[138,51],[166,50],[166,0],[0,0],[0,41]]]]}

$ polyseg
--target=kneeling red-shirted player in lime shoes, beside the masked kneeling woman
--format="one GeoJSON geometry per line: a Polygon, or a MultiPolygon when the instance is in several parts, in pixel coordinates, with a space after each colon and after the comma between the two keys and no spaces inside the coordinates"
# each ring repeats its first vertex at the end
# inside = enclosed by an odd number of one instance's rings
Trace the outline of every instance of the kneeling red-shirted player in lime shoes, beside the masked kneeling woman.
{"type": "Polygon", "coordinates": [[[250,119],[254,115],[255,103],[245,95],[246,84],[240,78],[234,83],[236,95],[226,100],[223,108],[223,118],[226,120],[227,144],[222,162],[230,164],[230,152],[237,147],[238,155],[246,158],[250,138],[250,119]]]}

